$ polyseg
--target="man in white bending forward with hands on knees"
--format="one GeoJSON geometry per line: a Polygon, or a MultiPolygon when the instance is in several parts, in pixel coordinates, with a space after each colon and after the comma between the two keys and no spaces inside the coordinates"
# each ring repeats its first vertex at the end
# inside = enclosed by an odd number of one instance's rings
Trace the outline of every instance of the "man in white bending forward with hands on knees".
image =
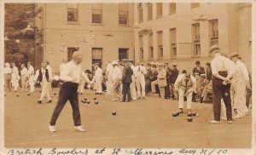
{"type": "Polygon", "coordinates": [[[196,88],[196,79],[183,70],[182,74],[177,76],[174,88],[178,91],[178,113],[183,113],[184,96],[187,96],[187,113],[191,114],[192,95],[196,88]]]}

